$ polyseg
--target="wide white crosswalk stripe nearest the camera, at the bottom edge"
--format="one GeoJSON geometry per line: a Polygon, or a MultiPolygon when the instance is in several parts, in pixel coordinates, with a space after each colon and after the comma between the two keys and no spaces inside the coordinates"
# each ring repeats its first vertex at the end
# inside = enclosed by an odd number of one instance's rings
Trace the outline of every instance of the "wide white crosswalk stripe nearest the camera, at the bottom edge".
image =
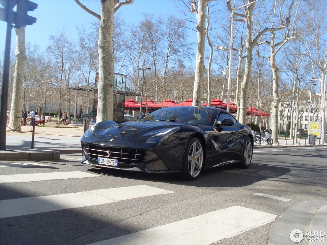
{"type": "MultiPolygon", "coordinates": [[[[276,215],[232,206],[92,245],[208,245],[270,223],[276,215]]],[[[90,244],[91,245],[91,244],[90,244]]]]}

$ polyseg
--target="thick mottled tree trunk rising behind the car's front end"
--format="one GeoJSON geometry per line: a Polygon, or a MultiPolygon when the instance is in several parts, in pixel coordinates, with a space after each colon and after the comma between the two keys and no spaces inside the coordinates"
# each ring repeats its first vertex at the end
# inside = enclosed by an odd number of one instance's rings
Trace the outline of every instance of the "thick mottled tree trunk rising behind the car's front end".
{"type": "Polygon", "coordinates": [[[101,0],[101,22],[99,28],[99,92],[97,122],[113,119],[113,14],[114,2],[101,0]]]}

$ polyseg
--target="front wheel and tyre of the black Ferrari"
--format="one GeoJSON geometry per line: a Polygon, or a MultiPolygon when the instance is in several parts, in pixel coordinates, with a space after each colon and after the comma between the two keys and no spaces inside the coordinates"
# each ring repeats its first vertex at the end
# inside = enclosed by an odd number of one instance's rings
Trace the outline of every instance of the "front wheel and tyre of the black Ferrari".
{"type": "Polygon", "coordinates": [[[202,170],[203,148],[198,138],[192,137],[186,145],[183,156],[181,178],[183,180],[195,180],[202,170]]]}

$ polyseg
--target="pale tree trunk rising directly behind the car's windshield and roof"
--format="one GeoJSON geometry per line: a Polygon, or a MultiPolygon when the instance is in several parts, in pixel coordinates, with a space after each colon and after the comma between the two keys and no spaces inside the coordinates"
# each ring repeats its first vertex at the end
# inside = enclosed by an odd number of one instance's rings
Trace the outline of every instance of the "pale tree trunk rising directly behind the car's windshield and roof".
{"type": "Polygon", "coordinates": [[[207,2],[206,0],[198,0],[198,14],[197,14],[198,24],[196,25],[197,32],[198,32],[198,43],[197,43],[192,106],[196,106],[197,101],[200,101],[202,98],[201,88],[202,88],[203,76],[205,72],[204,46],[205,46],[206,2],[207,2]]]}

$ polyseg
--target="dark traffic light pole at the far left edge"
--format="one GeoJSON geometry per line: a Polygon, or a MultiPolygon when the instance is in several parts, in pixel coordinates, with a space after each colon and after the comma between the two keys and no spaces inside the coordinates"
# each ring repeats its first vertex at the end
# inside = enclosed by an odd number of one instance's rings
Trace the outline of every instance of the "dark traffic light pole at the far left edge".
{"type": "Polygon", "coordinates": [[[7,130],[7,105],[8,105],[8,84],[9,84],[9,66],[10,66],[10,44],[13,16],[13,1],[7,2],[7,33],[5,44],[5,56],[3,64],[2,88],[1,88],[1,106],[0,106],[0,150],[6,150],[6,130],[7,130]]]}

